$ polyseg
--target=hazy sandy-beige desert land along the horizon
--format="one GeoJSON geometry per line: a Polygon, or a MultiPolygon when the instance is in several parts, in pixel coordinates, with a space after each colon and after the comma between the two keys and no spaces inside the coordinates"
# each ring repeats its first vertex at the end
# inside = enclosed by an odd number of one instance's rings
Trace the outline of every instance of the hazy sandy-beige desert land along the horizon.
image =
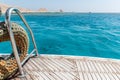
{"type": "MultiPolygon", "coordinates": [[[[31,13],[31,12],[49,12],[46,8],[40,8],[38,10],[30,10],[30,9],[26,9],[26,8],[22,8],[22,7],[18,7],[18,6],[11,6],[11,5],[7,5],[7,4],[4,4],[4,3],[0,3],[0,8],[2,10],[2,13],[5,13],[6,10],[9,8],[9,7],[15,7],[17,9],[19,9],[21,12],[23,13],[31,13]]],[[[58,12],[63,12],[62,9],[58,10],[58,12]]]]}

